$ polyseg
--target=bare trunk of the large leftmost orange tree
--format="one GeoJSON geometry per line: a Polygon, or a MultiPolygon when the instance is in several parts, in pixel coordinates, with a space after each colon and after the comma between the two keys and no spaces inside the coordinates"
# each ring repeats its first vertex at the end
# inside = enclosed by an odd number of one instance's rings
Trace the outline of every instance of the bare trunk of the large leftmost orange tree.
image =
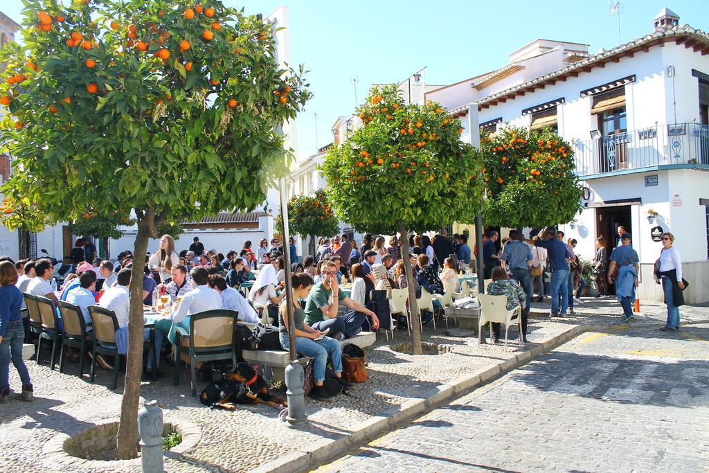
{"type": "MultiPolygon", "coordinates": [[[[121,401],[121,423],[118,425],[116,450],[118,460],[138,456],[138,404],[140,377],[143,372],[143,276],[150,222],[144,216],[138,220],[138,235],[133,249],[133,271],[130,274],[130,321],[128,322],[128,355],[125,363],[125,384],[121,401]]],[[[152,349],[152,348],[151,348],[152,349]]],[[[118,360],[116,360],[118,363],[118,360]]],[[[152,367],[157,369],[157,367],[152,367]]]]}

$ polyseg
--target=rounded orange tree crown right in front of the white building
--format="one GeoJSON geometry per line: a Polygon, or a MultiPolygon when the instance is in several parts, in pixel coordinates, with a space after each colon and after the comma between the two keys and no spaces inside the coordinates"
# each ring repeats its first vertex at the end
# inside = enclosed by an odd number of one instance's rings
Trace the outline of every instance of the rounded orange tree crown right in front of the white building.
{"type": "Polygon", "coordinates": [[[487,225],[541,228],[565,223],[581,209],[574,152],[549,128],[504,128],[481,135],[487,225]]]}

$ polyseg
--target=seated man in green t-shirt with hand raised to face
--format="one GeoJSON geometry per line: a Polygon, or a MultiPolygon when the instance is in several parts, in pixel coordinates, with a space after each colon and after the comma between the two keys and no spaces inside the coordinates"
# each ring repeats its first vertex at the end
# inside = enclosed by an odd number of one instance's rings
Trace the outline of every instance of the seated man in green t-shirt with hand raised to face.
{"type": "Polygon", "coordinates": [[[371,319],[372,330],[379,328],[379,318],[368,308],[349,297],[345,297],[337,282],[337,265],[327,262],[323,266],[323,280],[313,289],[306,301],[306,323],[321,332],[330,329],[328,336],[337,340],[352,338],[362,331],[362,323],[367,316],[371,319]],[[352,311],[337,316],[337,302],[342,301],[352,311]]]}

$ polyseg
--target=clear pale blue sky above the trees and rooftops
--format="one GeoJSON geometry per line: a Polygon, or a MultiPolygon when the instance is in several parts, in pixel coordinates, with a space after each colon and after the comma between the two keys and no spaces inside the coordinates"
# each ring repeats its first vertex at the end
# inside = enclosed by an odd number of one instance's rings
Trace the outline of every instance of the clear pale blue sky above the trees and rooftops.
{"type": "MultiPolygon", "coordinates": [[[[608,0],[224,3],[243,6],[247,13],[289,7],[291,59],[311,70],[308,81],[315,94],[298,116],[301,159],[332,141],[337,116],[354,111],[352,77],[359,81],[362,100],[370,84],[400,82],[424,66],[427,84],[450,84],[496,69],[535,38],[586,43],[591,53],[618,45],[618,20],[609,15],[608,0]]],[[[652,19],[663,6],[677,13],[680,23],[709,30],[709,0],[625,0],[623,6],[623,43],[652,32],[652,19]]],[[[0,11],[19,21],[21,1],[0,0],[0,11]]]]}

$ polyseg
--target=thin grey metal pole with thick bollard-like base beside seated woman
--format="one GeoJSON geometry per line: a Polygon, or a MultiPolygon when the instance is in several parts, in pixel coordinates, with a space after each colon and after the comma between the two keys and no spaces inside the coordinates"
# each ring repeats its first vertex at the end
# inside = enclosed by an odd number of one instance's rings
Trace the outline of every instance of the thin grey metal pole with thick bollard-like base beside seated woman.
{"type": "Polygon", "coordinates": [[[281,200],[281,222],[283,223],[283,258],[285,261],[285,277],[286,277],[286,312],[288,313],[288,341],[291,361],[285,370],[286,378],[286,396],[288,397],[288,414],[285,420],[291,427],[304,425],[308,421],[306,416],[305,391],[303,384],[305,383],[305,374],[303,367],[298,363],[298,354],[296,353],[296,321],[294,320],[294,305],[293,305],[293,283],[291,281],[291,252],[288,250],[289,229],[288,229],[288,196],[286,195],[286,179],[279,179],[279,197],[281,200]]]}

